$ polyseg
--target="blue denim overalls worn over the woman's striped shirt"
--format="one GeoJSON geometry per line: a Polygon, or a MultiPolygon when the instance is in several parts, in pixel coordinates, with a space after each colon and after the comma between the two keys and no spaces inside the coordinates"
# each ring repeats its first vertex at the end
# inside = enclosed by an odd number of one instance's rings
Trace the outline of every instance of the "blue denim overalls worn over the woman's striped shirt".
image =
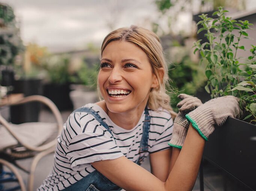
{"type": "MultiPolygon", "coordinates": [[[[76,109],[73,112],[87,112],[94,116],[94,118],[104,126],[110,134],[113,136],[109,126],[102,120],[97,112],[88,107],[81,107],[76,109]]],[[[141,138],[140,144],[140,156],[136,161],[136,164],[141,165],[144,160],[145,154],[148,151],[148,132],[150,129],[150,116],[148,114],[147,107],[145,108],[145,120],[143,125],[143,134],[141,138]]],[[[94,170],[92,173],[88,174],[78,182],[69,187],[65,188],[64,191],[120,191],[122,188],[118,187],[116,184],[107,179],[104,175],[102,175],[99,171],[94,170]]]]}

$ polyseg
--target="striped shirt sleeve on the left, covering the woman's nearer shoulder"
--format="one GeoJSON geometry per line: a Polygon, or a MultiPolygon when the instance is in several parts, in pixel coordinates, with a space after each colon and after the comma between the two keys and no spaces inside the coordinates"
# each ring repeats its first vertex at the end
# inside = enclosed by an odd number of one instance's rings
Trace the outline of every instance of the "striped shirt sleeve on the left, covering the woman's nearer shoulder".
{"type": "Polygon", "coordinates": [[[92,115],[83,116],[79,120],[71,120],[81,129],[67,147],[66,156],[73,170],[82,169],[88,163],[124,156],[111,134],[92,115]]]}

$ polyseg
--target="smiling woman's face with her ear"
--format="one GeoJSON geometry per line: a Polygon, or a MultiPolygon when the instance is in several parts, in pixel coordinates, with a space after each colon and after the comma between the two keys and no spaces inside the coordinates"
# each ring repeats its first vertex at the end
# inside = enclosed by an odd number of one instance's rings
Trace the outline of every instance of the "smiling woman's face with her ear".
{"type": "Polygon", "coordinates": [[[127,41],[112,41],[102,53],[100,92],[112,113],[144,109],[150,88],[158,86],[147,54],[127,41]]]}

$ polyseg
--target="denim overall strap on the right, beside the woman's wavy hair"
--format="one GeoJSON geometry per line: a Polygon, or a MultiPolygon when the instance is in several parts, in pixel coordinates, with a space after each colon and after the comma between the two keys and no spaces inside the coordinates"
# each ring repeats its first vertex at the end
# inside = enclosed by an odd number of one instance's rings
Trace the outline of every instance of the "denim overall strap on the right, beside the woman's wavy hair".
{"type": "Polygon", "coordinates": [[[144,153],[148,151],[148,133],[150,129],[150,115],[148,113],[148,108],[145,108],[145,120],[143,124],[143,132],[141,138],[141,145],[139,148],[139,153],[144,153]]]}

